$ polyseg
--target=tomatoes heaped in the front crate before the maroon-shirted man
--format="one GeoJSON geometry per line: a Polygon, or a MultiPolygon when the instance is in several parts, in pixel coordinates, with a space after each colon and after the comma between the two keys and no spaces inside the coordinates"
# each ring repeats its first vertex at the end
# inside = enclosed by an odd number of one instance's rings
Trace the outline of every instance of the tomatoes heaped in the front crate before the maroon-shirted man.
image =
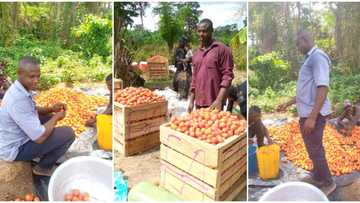
{"type": "Polygon", "coordinates": [[[170,127],[210,144],[219,144],[246,130],[246,121],[230,112],[199,109],[185,117],[172,117],[170,127]]]}

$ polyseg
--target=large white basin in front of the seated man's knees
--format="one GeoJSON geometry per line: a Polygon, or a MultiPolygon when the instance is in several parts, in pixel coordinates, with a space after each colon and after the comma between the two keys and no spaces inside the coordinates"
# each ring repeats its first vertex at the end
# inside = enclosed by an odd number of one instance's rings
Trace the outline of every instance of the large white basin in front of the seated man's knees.
{"type": "Polygon", "coordinates": [[[50,178],[49,201],[64,201],[73,189],[88,192],[91,201],[113,201],[112,162],[90,156],[65,161],[50,178]]]}

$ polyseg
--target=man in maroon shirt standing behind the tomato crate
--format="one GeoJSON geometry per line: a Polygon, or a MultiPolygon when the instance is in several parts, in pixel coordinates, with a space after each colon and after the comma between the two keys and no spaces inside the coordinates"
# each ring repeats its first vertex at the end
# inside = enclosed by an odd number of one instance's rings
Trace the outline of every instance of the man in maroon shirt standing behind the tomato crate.
{"type": "Polygon", "coordinates": [[[227,89],[234,78],[230,48],[212,38],[213,26],[203,19],[197,26],[200,48],[195,52],[188,112],[194,108],[222,109],[227,89]]]}

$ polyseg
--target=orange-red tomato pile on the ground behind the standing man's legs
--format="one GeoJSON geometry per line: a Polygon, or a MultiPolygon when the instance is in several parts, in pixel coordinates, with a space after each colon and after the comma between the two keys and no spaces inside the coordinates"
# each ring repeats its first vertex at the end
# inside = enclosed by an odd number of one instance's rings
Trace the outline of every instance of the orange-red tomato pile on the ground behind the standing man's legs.
{"type": "MultiPolygon", "coordinates": [[[[297,121],[281,127],[270,127],[269,133],[280,144],[287,160],[305,170],[312,169],[297,121]]],[[[344,137],[333,126],[326,125],[323,143],[332,175],[340,176],[360,170],[360,127],[354,128],[352,136],[344,137]]]]}

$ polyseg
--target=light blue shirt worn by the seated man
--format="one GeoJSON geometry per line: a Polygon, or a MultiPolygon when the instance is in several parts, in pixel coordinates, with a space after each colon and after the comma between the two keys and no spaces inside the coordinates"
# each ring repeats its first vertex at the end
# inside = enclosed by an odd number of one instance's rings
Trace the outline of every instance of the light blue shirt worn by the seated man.
{"type": "Polygon", "coordinates": [[[15,81],[0,106],[0,160],[15,160],[21,145],[44,132],[32,93],[15,81]]]}

